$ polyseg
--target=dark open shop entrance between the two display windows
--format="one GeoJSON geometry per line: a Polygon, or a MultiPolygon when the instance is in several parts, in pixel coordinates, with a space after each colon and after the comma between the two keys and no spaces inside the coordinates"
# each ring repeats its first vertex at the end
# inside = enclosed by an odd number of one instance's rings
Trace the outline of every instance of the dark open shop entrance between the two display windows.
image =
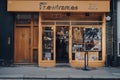
{"type": "Polygon", "coordinates": [[[56,26],[56,62],[69,62],[69,27],[56,26]]]}

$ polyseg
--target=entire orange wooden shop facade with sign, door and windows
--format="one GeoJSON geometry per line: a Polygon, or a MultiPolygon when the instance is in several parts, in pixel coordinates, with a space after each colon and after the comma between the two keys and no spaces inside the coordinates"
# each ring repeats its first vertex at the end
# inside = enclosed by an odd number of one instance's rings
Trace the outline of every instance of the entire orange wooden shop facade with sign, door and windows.
{"type": "Polygon", "coordinates": [[[15,13],[14,63],[83,67],[88,52],[88,66],[105,66],[110,0],[8,0],[7,5],[15,13]]]}

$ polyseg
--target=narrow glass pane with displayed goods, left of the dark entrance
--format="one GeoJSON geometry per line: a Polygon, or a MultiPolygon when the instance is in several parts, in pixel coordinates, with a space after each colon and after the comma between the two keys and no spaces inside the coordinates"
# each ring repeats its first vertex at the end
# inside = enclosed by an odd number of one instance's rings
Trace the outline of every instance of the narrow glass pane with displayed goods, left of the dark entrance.
{"type": "Polygon", "coordinates": [[[54,34],[52,27],[43,27],[42,33],[42,60],[53,60],[54,34]]]}

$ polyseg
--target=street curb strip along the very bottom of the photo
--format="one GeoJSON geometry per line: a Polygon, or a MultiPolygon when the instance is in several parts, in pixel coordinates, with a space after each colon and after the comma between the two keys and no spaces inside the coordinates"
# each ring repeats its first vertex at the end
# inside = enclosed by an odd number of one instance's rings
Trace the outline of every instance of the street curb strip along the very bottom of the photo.
{"type": "Polygon", "coordinates": [[[0,75],[0,79],[64,79],[64,80],[120,80],[120,76],[47,76],[47,75],[0,75]]]}

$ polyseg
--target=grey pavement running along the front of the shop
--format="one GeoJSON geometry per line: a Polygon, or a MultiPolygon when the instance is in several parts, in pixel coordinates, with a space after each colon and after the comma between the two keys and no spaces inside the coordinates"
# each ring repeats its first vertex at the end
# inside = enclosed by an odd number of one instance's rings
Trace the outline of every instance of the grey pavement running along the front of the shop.
{"type": "Polygon", "coordinates": [[[120,80],[120,67],[72,68],[9,66],[0,67],[0,80],[120,80]]]}

